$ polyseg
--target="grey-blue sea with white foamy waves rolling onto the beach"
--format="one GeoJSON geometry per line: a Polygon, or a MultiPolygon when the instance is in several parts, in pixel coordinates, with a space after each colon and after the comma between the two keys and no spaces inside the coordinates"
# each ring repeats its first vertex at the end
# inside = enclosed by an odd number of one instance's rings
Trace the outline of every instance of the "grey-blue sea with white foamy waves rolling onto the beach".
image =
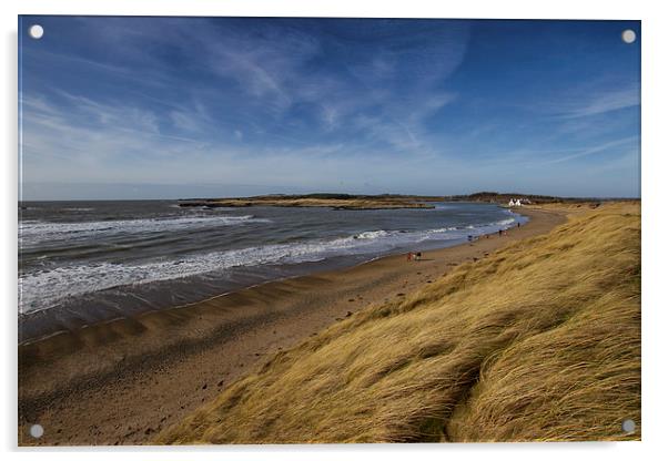
{"type": "Polygon", "coordinates": [[[492,204],[434,209],[19,204],[21,341],[263,281],[428,250],[524,223],[492,204]]]}

